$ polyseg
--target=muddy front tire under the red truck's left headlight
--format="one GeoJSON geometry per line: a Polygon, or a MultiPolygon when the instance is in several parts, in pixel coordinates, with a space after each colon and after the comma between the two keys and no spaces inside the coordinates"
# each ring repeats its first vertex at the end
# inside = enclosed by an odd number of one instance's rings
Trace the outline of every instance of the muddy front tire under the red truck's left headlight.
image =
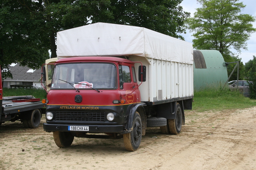
{"type": "Polygon", "coordinates": [[[74,141],[74,135],[70,132],[53,132],[53,139],[56,145],[60,148],[69,147],[74,141]]]}

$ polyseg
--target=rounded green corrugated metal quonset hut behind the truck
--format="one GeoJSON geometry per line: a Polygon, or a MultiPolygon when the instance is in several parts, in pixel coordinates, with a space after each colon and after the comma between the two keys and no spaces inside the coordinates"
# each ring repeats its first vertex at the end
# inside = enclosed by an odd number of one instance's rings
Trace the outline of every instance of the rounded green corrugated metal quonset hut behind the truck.
{"type": "Polygon", "coordinates": [[[194,91],[219,88],[228,80],[228,72],[217,50],[194,50],[194,91]]]}

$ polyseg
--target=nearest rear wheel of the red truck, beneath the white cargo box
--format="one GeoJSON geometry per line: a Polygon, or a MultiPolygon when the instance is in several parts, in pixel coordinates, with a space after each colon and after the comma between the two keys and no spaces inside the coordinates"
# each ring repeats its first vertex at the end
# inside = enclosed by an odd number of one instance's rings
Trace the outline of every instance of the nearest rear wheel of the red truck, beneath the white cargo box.
{"type": "Polygon", "coordinates": [[[176,104],[176,119],[169,119],[168,125],[171,134],[177,135],[180,133],[182,126],[182,111],[180,104],[176,104]]]}

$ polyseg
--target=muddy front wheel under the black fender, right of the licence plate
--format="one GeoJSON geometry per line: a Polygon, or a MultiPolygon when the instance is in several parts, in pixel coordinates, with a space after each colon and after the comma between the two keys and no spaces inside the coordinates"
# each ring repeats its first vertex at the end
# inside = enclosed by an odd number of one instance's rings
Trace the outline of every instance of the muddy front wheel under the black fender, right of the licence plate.
{"type": "Polygon", "coordinates": [[[127,133],[123,135],[124,137],[124,147],[128,151],[135,151],[140,146],[140,141],[142,138],[142,123],[140,114],[136,111],[132,123],[132,133],[127,133]]]}

